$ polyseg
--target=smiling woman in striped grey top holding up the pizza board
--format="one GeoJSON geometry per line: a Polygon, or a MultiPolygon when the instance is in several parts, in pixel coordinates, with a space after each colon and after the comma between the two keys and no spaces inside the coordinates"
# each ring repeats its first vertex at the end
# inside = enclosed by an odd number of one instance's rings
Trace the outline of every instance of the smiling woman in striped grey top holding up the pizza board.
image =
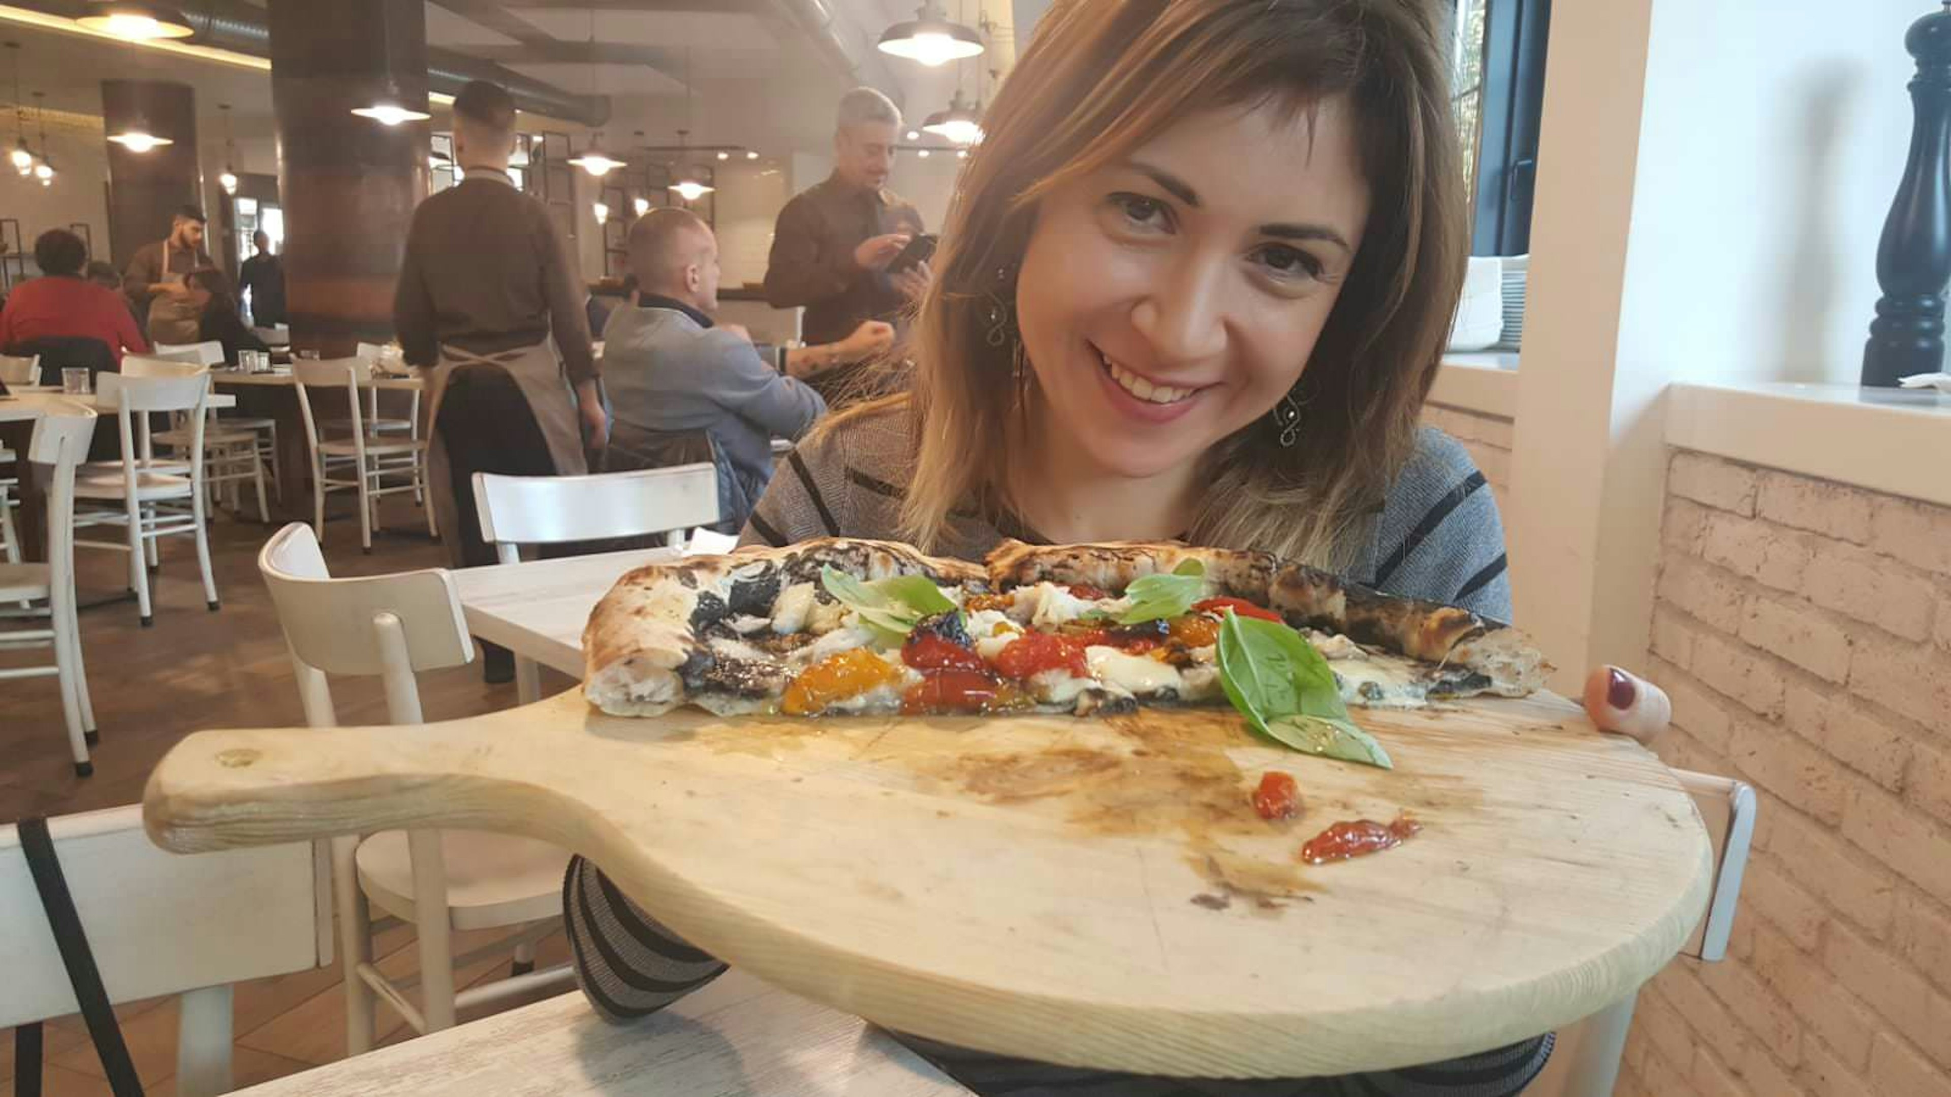
{"type": "MultiPolygon", "coordinates": [[[[1463,273],[1444,10],[1055,4],[960,180],[911,392],[804,441],[743,541],[896,537],[977,560],[1003,537],[1178,537],[1508,617],[1496,504],[1455,441],[1416,426],[1463,273]]],[[[722,970],[583,861],[566,904],[605,1013],[722,970]]],[[[1106,1097],[1493,1097],[1551,1046],[1206,1083],[913,1042],[981,1093],[1106,1097]]]]}

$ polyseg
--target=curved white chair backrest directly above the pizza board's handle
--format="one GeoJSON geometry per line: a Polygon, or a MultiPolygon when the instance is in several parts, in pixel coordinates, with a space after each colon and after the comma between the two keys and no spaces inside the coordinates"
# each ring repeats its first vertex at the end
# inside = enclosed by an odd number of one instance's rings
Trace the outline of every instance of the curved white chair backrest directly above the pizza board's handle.
{"type": "Polygon", "coordinates": [[[299,664],[299,691],[312,726],[332,726],[336,718],[330,697],[322,689],[314,697],[310,675],[382,675],[392,722],[418,724],[414,673],[474,660],[460,591],[445,568],[336,580],[312,527],[295,521],[258,552],[258,572],[299,664]]]}

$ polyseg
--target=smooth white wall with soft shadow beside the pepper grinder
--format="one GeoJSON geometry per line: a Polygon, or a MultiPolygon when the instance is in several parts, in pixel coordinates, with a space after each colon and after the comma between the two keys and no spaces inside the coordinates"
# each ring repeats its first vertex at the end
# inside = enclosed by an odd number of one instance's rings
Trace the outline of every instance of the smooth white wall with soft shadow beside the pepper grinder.
{"type": "MultiPolygon", "coordinates": [[[[1920,0],[1656,0],[1619,351],[1853,385],[1920,0]]],[[[1559,37],[1553,35],[1553,47],[1559,37]]]]}

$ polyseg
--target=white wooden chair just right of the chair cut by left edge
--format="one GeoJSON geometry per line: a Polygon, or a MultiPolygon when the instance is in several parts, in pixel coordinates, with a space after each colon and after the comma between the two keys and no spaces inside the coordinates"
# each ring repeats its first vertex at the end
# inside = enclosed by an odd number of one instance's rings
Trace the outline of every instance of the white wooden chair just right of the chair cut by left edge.
{"type": "Polygon", "coordinates": [[[189,377],[123,377],[103,373],[96,379],[103,404],[115,406],[115,426],[121,431],[121,461],[111,470],[86,467],[74,478],[74,498],[92,504],[121,504],[119,509],[76,511],[74,525],[121,525],[127,545],[109,541],[76,541],[88,548],[129,552],[129,586],[135,588],[142,627],[154,625],[148,599],[148,566],[160,564],[156,543],[162,537],[187,533],[197,541],[197,566],[203,570],[203,599],[217,613],[217,576],[211,574],[209,527],[203,521],[203,463],[156,461],[148,429],[148,412],[185,412],[189,453],[203,451],[203,414],[209,404],[211,375],[199,369],[189,377]],[[137,441],[140,439],[140,443],[137,441]]]}

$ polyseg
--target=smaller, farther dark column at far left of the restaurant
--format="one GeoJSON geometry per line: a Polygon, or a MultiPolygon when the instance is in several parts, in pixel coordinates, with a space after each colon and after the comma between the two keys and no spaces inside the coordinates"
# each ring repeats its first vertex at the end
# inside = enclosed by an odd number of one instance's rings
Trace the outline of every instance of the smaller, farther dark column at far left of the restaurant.
{"type": "Polygon", "coordinates": [[[148,152],[107,142],[109,238],[96,240],[94,258],[109,252],[115,269],[127,269],[137,248],[170,234],[178,207],[203,203],[197,98],[187,84],[103,80],[101,123],[109,135],[142,129],[172,142],[148,152]]]}

